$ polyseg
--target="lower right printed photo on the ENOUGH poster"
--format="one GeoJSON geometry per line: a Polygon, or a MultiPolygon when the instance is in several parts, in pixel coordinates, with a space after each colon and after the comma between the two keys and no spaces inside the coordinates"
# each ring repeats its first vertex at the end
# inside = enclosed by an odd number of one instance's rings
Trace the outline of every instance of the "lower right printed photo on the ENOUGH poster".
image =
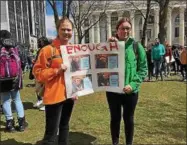
{"type": "Polygon", "coordinates": [[[102,72],[97,74],[98,86],[119,87],[118,72],[102,72]]]}

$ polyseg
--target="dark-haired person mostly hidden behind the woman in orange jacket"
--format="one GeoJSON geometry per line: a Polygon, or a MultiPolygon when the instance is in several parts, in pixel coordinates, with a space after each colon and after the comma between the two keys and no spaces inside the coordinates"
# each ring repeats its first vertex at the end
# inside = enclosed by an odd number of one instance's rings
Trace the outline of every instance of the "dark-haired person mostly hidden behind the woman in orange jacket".
{"type": "MultiPolygon", "coordinates": [[[[37,52],[37,55],[36,55],[36,58],[35,60],[33,61],[33,66],[35,64],[35,62],[37,61],[38,59],[38,55],[40,53],[40,50],[49,45],[51,42],[45,37],[45,36],[42,36],[38,39],[38,52],[37,52]]],[[[33,67],[32,67],[32,70],[33,70],[33,67]]],[[[32,72],[31,70],[31,72],[32,72]]],[[[34,76],[33,76],[34,77],[34,76]]],[[[36,80],[35,80],[36,81],[36,80]]],[[[45,106],[42,106],[41,105],[43,104],[43,100],[42,100],[42,96],[39,96],[38,93],[36,93],[36,96],[37,96],[37,102],[33,105],[34,108],[39,108],[39,110],[41,111],[44,111],[45,110],[45,106]]]]}

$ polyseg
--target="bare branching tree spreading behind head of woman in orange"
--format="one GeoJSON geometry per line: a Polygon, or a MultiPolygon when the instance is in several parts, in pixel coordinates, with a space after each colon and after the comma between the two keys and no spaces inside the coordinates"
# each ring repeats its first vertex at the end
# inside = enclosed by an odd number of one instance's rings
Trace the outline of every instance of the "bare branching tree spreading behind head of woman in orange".
{"type": "MultiPolygon", "coordinates": [[[[47,0],[50,4],[53,12],[54,12],[54,19],[55,24],[57,27],[57,22],[59,20],[58,10],[57,10],[57,3],[56,0],[47,0]]],[[[104,16],[106,8],[109,6],[110,2],[107,1],[73,1],[73,0],[63,0],[63,11],[62,16],[69,17],[73,19],[73,23],[78,34],[78,42],[81,43],[82,39],[85,37],[89,30],[96,25],[104,16]],[[97,11],[99,12],[99,17],[91,23],[89,19],[93,13],[97,11]],[[89,23],[87,27],[85,23],[89,23]]]]}

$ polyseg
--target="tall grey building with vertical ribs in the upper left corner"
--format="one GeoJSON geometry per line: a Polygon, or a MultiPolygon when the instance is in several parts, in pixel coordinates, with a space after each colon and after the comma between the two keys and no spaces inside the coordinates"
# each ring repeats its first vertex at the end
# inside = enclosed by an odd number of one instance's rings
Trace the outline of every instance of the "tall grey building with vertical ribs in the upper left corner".
{"type": "Polygon", "coordinates": [[[46,35],[45,1],[1,1],[0,24],[18,43],[36,48],[37,37],[46,35]]]}

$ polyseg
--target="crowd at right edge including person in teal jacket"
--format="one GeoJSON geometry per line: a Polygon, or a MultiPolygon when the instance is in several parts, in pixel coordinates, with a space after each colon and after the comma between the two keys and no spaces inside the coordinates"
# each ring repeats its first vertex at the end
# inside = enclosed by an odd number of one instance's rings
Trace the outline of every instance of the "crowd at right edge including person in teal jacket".
{"type": "Polygon", "coordinates": [[[164,77],[181,75],[181,81],[187,81],[187,47],[181,45],[171,46],[167,42],[161,44],[159,39],[155,39],[146,51],[148,62],[148,81],[157,81],[159,76],[161,81],[164,77]]]}

